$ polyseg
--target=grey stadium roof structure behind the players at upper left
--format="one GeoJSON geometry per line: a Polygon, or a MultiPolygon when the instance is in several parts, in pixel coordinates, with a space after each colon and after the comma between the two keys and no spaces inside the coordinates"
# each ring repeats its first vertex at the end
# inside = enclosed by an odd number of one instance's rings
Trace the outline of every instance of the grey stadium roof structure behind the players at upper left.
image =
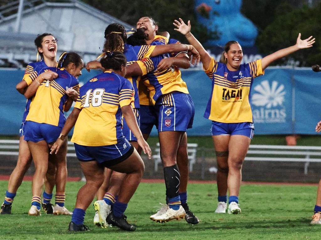
{"type": "Polygon", "coordinates": [[[44,32],[58,39],[58,54],[78,52],[84,62],[94,60],[101,53],[105,28],[114,22],[132,29],[131,25],[77,0],[11,2],[0,7],[0,67],[22,68],[35,61],[33,41],[44,32]]]}

